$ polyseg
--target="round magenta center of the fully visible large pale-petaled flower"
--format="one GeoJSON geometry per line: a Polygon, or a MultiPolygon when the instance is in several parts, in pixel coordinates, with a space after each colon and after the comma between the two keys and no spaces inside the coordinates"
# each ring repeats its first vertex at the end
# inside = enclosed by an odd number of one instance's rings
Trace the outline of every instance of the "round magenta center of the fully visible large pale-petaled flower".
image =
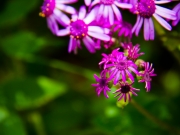
{"type": "Polygon", "coordinates": [[[82,20],[72,21],[70,24],[70,34],[76,39],[82,39],[87,35],[88,26],[82,20]]]}

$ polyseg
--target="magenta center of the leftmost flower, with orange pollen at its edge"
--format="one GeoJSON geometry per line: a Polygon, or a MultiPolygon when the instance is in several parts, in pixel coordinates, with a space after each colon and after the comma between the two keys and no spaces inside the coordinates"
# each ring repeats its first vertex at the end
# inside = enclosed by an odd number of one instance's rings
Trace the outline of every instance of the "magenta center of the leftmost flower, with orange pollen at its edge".
{"type": "Polygon", "coordinates": [[[54,8],[55,8],[55,0],[44,0],[39,15],[42,17],[48,17],[53,13],[54,8]]]}

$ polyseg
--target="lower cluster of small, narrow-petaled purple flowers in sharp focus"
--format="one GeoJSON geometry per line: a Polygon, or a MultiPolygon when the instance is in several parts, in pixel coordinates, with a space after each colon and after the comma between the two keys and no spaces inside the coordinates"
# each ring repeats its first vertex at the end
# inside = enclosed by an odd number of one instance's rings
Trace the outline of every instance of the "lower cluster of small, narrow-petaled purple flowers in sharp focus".
{"type": "Polygon", "coordinates": [[[101,92],[104,93],[105,97],[108,98],[107,91],[110,91],[108,87],[109,83],[112,82],[113,86],[118,86],[113,93],[118,93],[115,97],[119,96],[118,100],[124,99],[126,102],[131,99],[131,95],[137,96],[136,92],[139,89],[133,88],[135,78],[139,78],[139,82],[145,82],[145,88],[150,91],[152,76],[156,76],[152,64],[149,62],[141,62],[136,64],[139,56],[144,53],[139,53],[139,45],[133,46],[132,43],[122,44],[122,48],[127,53],[119,51],[120,49],[114,49],[111,54],[102,54],[103,58],[99,62],[102,71],[100,78],[94,75],[96,84],[92,86],[96,87],[98,96],[101,92]],[[98,78],[98,79],[97,79],[98,78]]]}

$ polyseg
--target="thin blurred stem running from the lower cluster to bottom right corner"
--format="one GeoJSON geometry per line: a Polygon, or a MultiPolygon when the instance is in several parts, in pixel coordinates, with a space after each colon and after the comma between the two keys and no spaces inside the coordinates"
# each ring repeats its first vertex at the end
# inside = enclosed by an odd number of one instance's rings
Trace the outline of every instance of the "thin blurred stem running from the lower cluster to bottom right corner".
{"type": "Polygon", "coordinates": [[[154,115],[150,114],[147,110],[145,110],[142,106],[140,106],[135,100],[131,100],[130,102],[141,114],[143,114],[146,118],[151,120],[152,122],[158,124],[162,129],[169,131],[170,133],[176,133],[180,135],[180,130],[176,129],[163,121],[156,118],[154,115]]]}

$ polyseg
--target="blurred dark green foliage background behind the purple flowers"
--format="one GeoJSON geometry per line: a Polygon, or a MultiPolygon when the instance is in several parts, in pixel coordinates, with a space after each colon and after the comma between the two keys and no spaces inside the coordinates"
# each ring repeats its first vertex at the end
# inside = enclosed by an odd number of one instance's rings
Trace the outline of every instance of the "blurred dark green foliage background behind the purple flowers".
{"type": "MultiPolygon", "coordinates": [[[[102,48],[67,52],[38,16],[42,0],[0,2],[0,135],[176,135],[180,133],[180,25],[156,26],[156,39],[133,38],[154,64],[152,89],[117,107],[114,95],[96,96],[94,73],[102,48]]],[[[83,1],[80,0],[76,7],[83,1]]],[[[167,5],[173,7],[176,3],[167,5]]],[[[136,16],[125,20],[135,23],[136,16]]],[[[132,16],[132,15],[131,15],[132,16]]]]}

